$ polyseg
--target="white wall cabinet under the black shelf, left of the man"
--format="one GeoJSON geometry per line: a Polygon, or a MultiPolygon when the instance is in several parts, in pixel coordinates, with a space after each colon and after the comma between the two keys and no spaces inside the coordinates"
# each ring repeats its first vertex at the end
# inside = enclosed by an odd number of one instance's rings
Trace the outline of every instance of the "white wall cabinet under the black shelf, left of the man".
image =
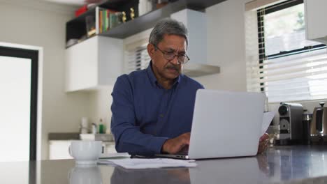
{"type": "Polygon", "coordinates": [[[122,74],[123,40],[94,36],[66,49],[66,92],[110,86],[122,74]]]}

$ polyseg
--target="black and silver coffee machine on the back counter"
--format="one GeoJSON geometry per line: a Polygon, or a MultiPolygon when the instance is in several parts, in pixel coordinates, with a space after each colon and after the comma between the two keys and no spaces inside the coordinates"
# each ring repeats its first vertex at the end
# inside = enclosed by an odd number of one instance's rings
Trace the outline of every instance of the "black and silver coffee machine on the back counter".
{"type": "Polygon", "coordinates": [[[291,140],[287,144],[299,143],[303,139],[303,106],[298,103],[281,102],[279,113],[279,140],[291,140]]]}

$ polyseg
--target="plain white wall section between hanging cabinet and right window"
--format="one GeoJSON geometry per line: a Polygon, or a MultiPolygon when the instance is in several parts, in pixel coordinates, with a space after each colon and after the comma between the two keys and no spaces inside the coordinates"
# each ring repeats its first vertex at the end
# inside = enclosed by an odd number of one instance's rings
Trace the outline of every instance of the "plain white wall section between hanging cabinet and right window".
{"type": "Polygon", "coordinates": [[[207,8],[208,63],[220,66],[217,75],[197,77],[206,89],[246,91],[246,0],[228,0],[207,8]]]}

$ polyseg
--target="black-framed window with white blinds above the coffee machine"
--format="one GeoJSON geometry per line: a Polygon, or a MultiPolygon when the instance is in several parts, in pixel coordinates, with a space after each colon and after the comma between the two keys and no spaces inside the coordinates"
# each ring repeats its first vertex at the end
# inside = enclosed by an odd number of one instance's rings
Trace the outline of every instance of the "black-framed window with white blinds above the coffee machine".
{"type": "Polygon", "coordinates": [[[265,92],[269,102],[327,98],[326,45],[305,40],[303,0],[256,10],[256,20],[259,52],[248,62],[248,90],[265,92]]]}

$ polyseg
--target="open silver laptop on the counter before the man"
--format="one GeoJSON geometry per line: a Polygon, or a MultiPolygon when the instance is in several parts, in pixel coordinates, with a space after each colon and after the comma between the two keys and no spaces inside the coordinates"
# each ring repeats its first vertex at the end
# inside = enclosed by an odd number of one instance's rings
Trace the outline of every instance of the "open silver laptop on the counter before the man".
{"type": "Polygon", "coordinates": [[[266,95],[199,89],[196,92],[187,154],[159,154],[178,159],[256,155],[266,95]]]}

